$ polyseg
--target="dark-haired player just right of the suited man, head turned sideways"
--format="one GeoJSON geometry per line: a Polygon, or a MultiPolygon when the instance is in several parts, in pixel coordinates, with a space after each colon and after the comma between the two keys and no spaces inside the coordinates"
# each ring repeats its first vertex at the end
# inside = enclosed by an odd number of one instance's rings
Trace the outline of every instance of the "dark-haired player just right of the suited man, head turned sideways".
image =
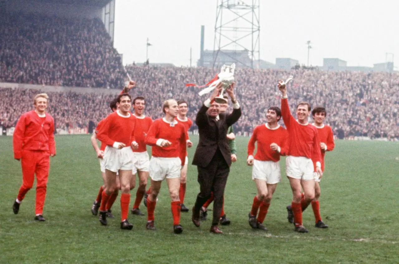
{"type": "Polygon", "coordinates": [[[288,132],[278,124],[280,118],[280,108],[271,106],[266,114],[267,123],[255,127],[248,142],[247,165],[253,166],[252,179],[257,188],[257,195],[253,198],[251,212],[248,215],[249,225],[253,229],[267,231],[263,221],[277,183],[281,181],[279,161],[280,156],[285,156],[288,151],[288,132]],[[254,157],[255,142],[257,152],[254,157]]]}

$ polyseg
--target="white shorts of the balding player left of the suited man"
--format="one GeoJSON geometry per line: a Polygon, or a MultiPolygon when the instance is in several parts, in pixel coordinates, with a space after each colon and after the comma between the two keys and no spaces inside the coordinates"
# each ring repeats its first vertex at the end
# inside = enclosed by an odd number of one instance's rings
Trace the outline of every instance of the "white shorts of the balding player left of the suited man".
{"type": "Polygon", "coordinates": [[[153,181],[163,181],[166,179],[180,178],[180,168],[182,161],[180,158],[161,158],[151,157],[149,171],[153,181]]]}

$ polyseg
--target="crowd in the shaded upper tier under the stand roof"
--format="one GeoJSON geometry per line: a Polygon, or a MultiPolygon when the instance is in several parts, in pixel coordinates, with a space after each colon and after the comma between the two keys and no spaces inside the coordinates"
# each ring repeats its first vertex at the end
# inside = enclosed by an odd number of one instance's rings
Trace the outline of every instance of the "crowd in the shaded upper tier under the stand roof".
{"type": "Polygon", "coordinates": [[[101,20],[2,16],[0,82],[117,88],[123,77],[101,20]]]}

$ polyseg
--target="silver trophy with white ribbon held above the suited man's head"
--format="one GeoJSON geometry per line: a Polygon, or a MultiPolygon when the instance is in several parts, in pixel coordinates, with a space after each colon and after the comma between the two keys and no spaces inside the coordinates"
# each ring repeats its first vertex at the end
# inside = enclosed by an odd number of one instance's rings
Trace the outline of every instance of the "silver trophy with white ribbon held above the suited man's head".
{"type": "Polygon", "coordinates": [[[199,95],[204,95],[206,93],[210,93],[215,89],[215,87],[219,84],[223,84],[223,88],[220,91],[219,95],[215,97],[215,102],[219,104],[227,104],[227,100],[223,98],[223,93],[226,89],[234,82],[234,70],[235,63],[231,64],[231,66],[223,65],[220,73],[217,75],[217,80],[213,81],[209,87],[203,89],[199,92],[199,95]]]}

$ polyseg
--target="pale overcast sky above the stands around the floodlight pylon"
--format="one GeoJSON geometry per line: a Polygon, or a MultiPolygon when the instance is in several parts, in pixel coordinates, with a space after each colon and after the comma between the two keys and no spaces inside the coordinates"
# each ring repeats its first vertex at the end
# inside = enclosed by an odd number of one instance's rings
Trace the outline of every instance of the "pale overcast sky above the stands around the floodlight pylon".
{"type": "MultiPolygon", "coordinates": [[[[124,64],[145,61],[148,37],[150,63],[190,65],[192,47],[192,65],[196,65],[201,25],[205,49],[213,49],[219,1],[116,0],[115,47],[124,64]]],[[[385,62],[385,53],[394,53],[398,67],[398,10],[399,2],[393,0],[261,0],[260,58],[275,63],[276,57],[290,57],[306,64],[310,40],[312,65],[338,57],[348,66],[372,67],[385,62]]],[[[250,39],[242,43],[251,47],[250,39]]]]}

